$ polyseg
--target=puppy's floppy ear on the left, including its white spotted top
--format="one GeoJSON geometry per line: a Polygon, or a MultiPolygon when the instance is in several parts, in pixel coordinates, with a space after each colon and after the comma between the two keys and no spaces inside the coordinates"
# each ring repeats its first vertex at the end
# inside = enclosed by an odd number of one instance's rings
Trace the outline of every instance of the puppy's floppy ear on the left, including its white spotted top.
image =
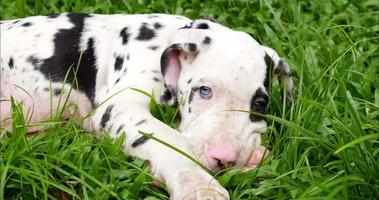
{"type": "MultiPolygon", "coordinates": [[[[171,94],[171,98],[177,97],[178,79],[182,68],[191,65],[197,55],[209,45],[210,38],[203,31],[197,29],[180,29],[172,38],[171,45],[167,47],[161,56],[161,73],[165,85],[171,94]]],[[[167,96],[167,94],[164,94],[167,96]]],[[[163,102],[172,104],[169,102],[163,102]]]]}

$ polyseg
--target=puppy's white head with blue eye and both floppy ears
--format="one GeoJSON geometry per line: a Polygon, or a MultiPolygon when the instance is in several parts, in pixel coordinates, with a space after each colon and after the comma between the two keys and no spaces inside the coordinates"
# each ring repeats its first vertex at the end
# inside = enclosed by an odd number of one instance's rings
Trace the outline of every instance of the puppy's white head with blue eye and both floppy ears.
{"type": "Polygon", "coordinates": [[[274,50],[209,20],[176,32],[162,54],[161,72],[179,104],[181,132],[213,170],[245,165],[261,144],[265,120],[235,110],[264,113],[272,74],[286,82],[286,102],[292,102],[289,67],[274,50]]]}

